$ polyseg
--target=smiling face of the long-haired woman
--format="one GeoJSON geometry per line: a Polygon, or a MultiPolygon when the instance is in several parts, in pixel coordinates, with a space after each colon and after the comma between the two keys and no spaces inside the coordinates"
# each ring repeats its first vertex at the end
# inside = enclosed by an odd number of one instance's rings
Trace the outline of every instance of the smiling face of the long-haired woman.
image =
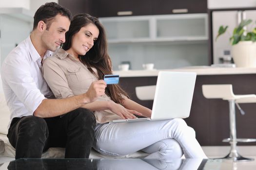
{"type": "Polygon", "coordinates": [[[99,30],[96,25],[90,23],[82,27],[72,38],[71,49],[74,56],[85,55],[89,51],[94,42],[97,40],[99,30]]]}

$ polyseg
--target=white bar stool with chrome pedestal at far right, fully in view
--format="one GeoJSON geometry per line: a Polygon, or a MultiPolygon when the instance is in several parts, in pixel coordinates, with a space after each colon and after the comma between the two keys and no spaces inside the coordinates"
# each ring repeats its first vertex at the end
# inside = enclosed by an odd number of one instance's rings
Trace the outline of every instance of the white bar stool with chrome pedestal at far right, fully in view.
{"type": "MultiPolygon", "coordinates": [[[[203,96],[207,99],[222,99],[229,102],[229,123],[230,138],[223,139],[223,142],[229,142],[231,146],[230,153],[223,159],[232,159],[233,161],[251,161],[253,158],[245,158],[241,156],[236,148],[237,142],[255,142],[256,139],[236,138],[236,110],[237,103],[253,103],[256,102],[255,94],[235,95],[232,85],[202,85],[203,96]]],[[[244,112],[237,104],[241,114],[244,112]]]]}

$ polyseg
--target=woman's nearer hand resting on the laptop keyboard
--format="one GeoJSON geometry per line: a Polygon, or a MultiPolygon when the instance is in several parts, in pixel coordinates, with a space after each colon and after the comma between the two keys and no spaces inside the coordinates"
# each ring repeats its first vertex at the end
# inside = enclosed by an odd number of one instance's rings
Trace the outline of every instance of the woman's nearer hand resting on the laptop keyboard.
{"type": "Polygon", "coordinates": [[[123,107],[121,104],[117,104],[115,102],[110,102],[109,110],[118,115],[122,119],[136,119],[135,115],[142,116],[141,113],[136,110],[129,110],[123,107]]]}

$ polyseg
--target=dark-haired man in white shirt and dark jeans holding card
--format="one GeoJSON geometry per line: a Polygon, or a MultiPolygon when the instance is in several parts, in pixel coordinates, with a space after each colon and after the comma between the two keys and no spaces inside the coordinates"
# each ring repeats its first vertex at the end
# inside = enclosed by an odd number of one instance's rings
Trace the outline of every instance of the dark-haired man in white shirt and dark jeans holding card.
{"type": "MultiPolygon", "coordinates": [[[[94,114],[80,108],[104,94],[103,80],[93,82],[82,95],[51,98],[41,74],[43,61],[65,42],[71,13],[57,3],[40,6],[33,31],[6,57],[1,76],[11,111],[8,138],[16,159],[40,158],[50,147],[66,148],[66,158],[88,158],[94,139],[94,114]]],[[[18,28],[17,28],[18,29],[18,28]]]]}

